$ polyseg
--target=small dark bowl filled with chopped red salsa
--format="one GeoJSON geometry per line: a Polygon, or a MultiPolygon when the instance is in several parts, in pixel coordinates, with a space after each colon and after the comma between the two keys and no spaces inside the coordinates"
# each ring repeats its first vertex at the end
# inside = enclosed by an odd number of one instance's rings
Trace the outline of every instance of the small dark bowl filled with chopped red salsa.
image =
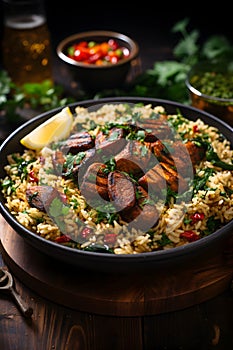
{"type": "Polygon", "coordinates": [[[63,39],[57,55],[85,91],[98,92],[124,85],[138,60],[139,46],[127,35],[88,31],[63,39]]]}

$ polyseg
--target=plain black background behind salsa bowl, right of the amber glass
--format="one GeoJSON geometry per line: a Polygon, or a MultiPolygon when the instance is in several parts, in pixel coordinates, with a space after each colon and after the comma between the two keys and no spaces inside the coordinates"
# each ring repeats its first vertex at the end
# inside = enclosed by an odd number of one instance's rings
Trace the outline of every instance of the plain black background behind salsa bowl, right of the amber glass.
{"type": "MultiPolygon", "coordinates": [[[[2,36],[2,0],[0,7],[0,37],[2,36]]],[[[172,33],[178,21],[188,18],[189,30],[197,29],[200,42],[210,35],[224,35],[233,40],[233,16],[227,2],[214,6],[211,2],[149,2],[115,1],[52,1],[44,0],[52,46],[77,32],[87,30],[113,30],[134,38],[139,46],[144,68],[153,62],[170,58],[171,51],[180,40],[172,33]]],[[[0,38],[1,39],[1,38],[0,38]]]]}

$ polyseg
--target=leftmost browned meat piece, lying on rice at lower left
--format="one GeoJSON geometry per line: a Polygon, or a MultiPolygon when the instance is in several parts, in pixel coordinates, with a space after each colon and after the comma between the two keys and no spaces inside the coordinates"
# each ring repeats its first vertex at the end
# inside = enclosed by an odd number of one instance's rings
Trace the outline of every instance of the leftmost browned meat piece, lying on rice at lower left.
{"type": "Polygon", "coordinates": [[[59,201],[66,204],[66,197],[63,193],[52,186],[38,185],[29,187],[26,190],[26,198],[29,205],[43,212],[48,212],[51,202],[58,198],[59,201]]]}

